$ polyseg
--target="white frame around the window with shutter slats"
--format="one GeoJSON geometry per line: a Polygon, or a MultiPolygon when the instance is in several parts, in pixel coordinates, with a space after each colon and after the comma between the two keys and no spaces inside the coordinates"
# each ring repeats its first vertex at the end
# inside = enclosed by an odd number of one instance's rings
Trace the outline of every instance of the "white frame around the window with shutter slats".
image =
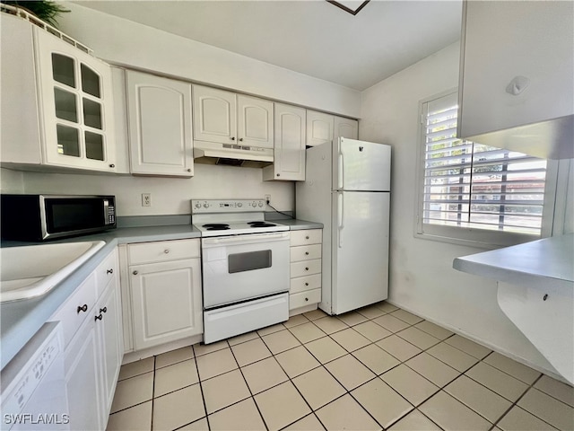
{"type": "Polygon", "coordinates": [[[482,249],[496,249],[522,242],[530,242],[546,238],[552,235],[552,225],[554,216],[554,205],[556,199],[556,189],[558,180],[558,161],[546,160],[546,179],[544,181],[544,207],[542,216],[542,226],[540,235],[527,233],[516,233],[508,231],[496,231],[489,229],[478,229],[474,227],[446,226],[440,224],[423,224],[422,215],[424,211],[424,171],[425,171],[425,144],[426,144],[426,116],[424,105],[430,101],[436,101],[457,92],[457,87],[444,92],[432,95],[419,101],[418,111],[418,135],[416,154],[416,201],[414,217],[414,237],[449,242],[458,245],[478,247],[482,249]]]}

